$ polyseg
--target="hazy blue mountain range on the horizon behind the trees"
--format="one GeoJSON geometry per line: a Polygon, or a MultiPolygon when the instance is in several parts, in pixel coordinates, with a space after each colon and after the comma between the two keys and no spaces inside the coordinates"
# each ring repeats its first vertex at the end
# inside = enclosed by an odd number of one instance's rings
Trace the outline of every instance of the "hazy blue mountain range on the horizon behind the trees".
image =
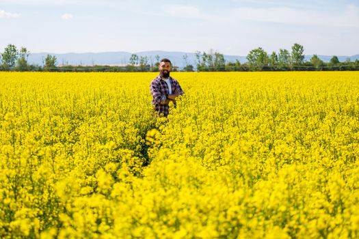
{"type": "MultiPolygon", "coordinates": [[[[46,55],[55,55],[57,58],[57,65],[72,65],[72,66],[93,66],[93,65],[110,65],[110,66],[125,66],[129,64],[129,59],[132,53],[126,51],[117,51],[117,52],[105,52],[105,53],[31,53],[29,55],[29,64],[38,64],[42,66],[46,55]]],[[[156,61],[156,55],[159,55],[160,58],[168,58],[172,61],[174,66],[183,68],[186,65],[184,55],[187,55],[187,64],[196,66],[196,54],[195,53],[185,53],[179,51],[141,51],[135,53],[138,56],[148,57],[149,64],[152,64],[156,61]]],[[[304,61],[310,61],[310,58],[313,55],[305,55],[304,61]]],[[[325,62],[330,61],[332,56],[327,55],[318,55],[320,59],[325,62]]],[[[359,60],[359,55],[353,56],[338,56],[339,61],[343,62],[346,59],[350,58],[351,61],[359,60]]],[[[227,62],[235,62],[237,59],[241,63],[245,63],[247,58],[245,56],[239,55],[224,55],[224,59],[227,62]]]]}

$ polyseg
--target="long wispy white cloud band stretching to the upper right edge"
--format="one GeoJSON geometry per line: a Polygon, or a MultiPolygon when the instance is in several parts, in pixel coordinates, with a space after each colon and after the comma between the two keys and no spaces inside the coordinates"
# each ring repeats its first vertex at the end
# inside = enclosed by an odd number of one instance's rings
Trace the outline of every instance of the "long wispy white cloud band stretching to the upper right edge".
{"type": "Polygon", "coordinates": [[[163,7],[163,11],[174,17],[209,20],[212,23],[235,23],[236,25],[243,20],[249,20],[308,27],[359,27],[359,7],[354,4],[347,5],[344,10],[331,13],[289,7],[241,7],[226,10],[222,14],[209,14],[191,5],[168,5],[163,7]]]}

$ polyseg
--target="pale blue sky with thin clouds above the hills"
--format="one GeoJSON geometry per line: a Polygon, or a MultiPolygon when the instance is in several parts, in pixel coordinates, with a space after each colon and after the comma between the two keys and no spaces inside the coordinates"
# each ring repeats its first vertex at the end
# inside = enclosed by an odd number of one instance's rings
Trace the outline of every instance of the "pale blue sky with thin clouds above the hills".
{"type": "Polygon", "coordinates": [[[0,52],[359,54],[359,0],[0,0],[0,52]]]}

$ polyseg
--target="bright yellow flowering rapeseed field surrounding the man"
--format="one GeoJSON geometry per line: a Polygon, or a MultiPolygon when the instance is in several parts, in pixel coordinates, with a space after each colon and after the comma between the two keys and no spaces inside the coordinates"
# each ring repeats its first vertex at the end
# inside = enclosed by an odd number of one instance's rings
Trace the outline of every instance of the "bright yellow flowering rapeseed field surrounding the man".
{"type": "Polygon", "coordinates": [[[359,72],[0,72],[0,238],[359,238],[359,72]]]}

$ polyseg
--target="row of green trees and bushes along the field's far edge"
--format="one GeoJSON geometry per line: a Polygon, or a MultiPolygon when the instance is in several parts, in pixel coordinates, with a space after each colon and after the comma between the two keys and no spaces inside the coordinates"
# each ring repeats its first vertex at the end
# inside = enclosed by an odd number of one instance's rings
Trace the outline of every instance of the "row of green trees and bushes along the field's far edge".
{"type": "MultiPolygon", "coordinates": [[[[43,66],[29,64],[30,53],[27,48],[16,48],[8,44],[3,53],[0,53],[0,71],[53,71],[53,72],[157,72],[159,55],[152,62],[147,56],[131,54],[129,64],[126,66],[58,66],[54,55],[47,55],[43,59],[43,66]],[[150,62],[151,61],[151,62],[150,62]]],[[[224,55],[218,51],[196,51],[195,66],[188,61],[188,55],[183,55],[185,67],[173,67],[174,71],[287,71],[287,70],[359,70],[359,61],[340,62],[333,56],[329,62],[322,61],[317,55],[313,55],[310,61],[304,61],[304,47],[293,44],[291,51],[280,49],[278,53],[273,51],[270,55],[258,47],[252,49],[243,64],[237,59],[235,62],[226,61],[224,55]]]]}

